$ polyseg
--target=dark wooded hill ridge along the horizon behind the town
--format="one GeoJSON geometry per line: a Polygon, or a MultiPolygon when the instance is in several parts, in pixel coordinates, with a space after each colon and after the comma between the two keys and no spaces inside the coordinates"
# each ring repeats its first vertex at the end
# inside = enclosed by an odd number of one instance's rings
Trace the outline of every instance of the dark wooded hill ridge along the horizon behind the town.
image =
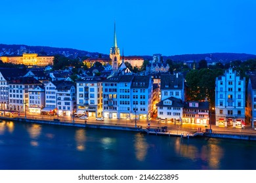
{"type": "MultiPolygon", "coordinates": [[[[0,56],[21,56],[22,53],[37,53],[39,55],[54,56],[62,54],[69,58],[98,58],[98,52],[87,52],[72,48],[54,48],[50,46],[27,46],[24,44],[0,44],[0,56]]],[[[108,58],[107,54],[101,54],[102,58],[108,58]]],[[[141,56],[144,59],[151,60],[152,56],[141,56]]],[[[173,61],[200,61],[207,59],[207,61],[221,61],[223,63],[247,59],[255,59],[256,55],[253,54],[235,54],[235,53],[209,53],[209,54],[183,54],[176,56],[163,56],[163,59],[171,59],[173,61]]]]}

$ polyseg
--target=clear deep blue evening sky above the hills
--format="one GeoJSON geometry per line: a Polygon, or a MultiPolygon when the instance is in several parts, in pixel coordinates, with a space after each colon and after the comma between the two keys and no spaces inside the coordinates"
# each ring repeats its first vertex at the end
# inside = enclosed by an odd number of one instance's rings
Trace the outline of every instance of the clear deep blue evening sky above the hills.
{"type": "Polygon", "coordinates": [[[0,43],[76,48],[125,56],[256,54],[255,0],[9,0],[0,43]]]}

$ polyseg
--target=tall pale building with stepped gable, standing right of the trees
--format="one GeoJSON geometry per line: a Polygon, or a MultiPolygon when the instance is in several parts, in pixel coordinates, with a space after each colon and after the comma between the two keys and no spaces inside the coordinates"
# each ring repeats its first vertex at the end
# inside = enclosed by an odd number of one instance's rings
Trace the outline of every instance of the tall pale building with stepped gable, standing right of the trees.
{"type": "Polygon", "coordinates": [[[245,121],[245,77],[228,69],[215,80],[216,125],[241,126],[245,121]]]}

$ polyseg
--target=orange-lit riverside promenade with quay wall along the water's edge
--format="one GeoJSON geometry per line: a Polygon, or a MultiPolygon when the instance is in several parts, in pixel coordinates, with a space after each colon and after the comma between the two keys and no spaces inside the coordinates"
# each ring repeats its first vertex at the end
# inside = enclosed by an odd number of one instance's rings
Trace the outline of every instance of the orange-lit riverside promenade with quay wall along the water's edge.
{"type": "Polygon", "coordinates": [[[89,120],[80,120],[79,118],[72,118],[65,116],[65,118],[58,118],[56,116],[41,116],[41,115],[27,115],[27,116],[0,116],[3,121],[26,122],[36,124],[51,124],[51,125],[66,125],[73,127],[87,127],[97,129],[114,129],[123,131],[137,131],[140,133],[148,133],[148,135],[169,135],[179,136],[182,138],[190,137],[214,137],[226,139],[243,139],[256,141],[256,131],[251,127],[219,127],[216,125],[199,125],[199,124],[174,124],[174,123],[160,123],[158,120],[137,120],[136,125],[134,120],[118,120],[118,119],[104,119],[104,121],[96,121],[95,118],[89,117],[89,120]],[[136,126],[136,127],[135,127],[136,126]],[[161,131],[167,127],[167,131],[161,131]],[[209,133],[211,128],[212,133],[209,133]]]}

